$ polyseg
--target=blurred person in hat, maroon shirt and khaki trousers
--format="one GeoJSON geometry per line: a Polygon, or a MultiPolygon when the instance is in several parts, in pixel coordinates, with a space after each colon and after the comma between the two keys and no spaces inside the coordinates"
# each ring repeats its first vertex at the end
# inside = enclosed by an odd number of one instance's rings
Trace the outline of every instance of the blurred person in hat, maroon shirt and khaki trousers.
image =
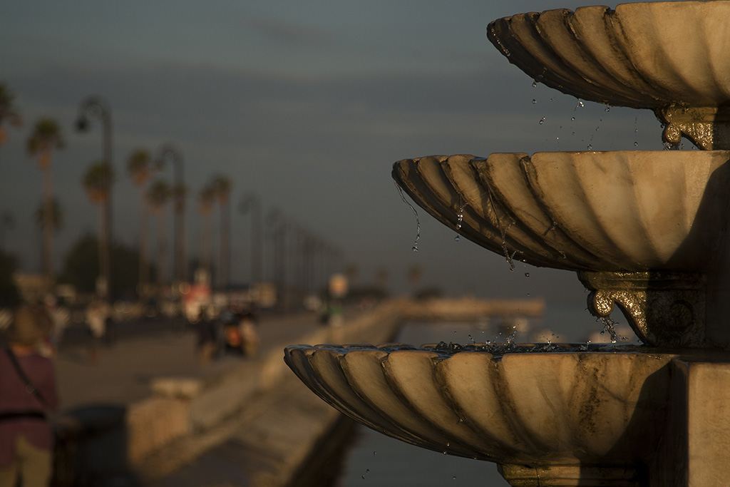
{"type": "Polygon", "coordinates": [[[47,415],[58,407],[58,395],[53,362],[38,347],[51,327],[43,307],[23,304],[0,348],[0,487],[50,482],[53,431],[47,415]]]}

